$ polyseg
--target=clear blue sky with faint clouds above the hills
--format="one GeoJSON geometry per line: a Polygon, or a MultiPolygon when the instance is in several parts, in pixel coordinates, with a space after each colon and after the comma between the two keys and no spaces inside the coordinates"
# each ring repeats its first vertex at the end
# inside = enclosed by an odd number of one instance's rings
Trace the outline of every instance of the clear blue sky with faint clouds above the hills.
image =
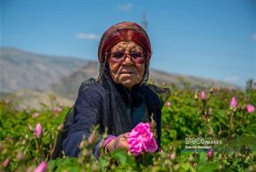
{"type": "Polygon", "coordinates": [[[151,68],[237,86],[256,80],[256,0],[0,2],[0,46],[97,60],[109,26],[144,16],[151,68]]]}

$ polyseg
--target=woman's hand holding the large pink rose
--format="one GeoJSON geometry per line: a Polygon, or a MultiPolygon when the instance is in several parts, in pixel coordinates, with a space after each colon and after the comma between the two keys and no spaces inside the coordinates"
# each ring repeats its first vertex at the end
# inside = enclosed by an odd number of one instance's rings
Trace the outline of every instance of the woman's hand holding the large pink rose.
{"type": "Polygon", "coordinates": [[[109,144],[106,146],[108,151],[111,152],[115,149],[126,149],[129,150],[130,146],[127,143],[127,134],[129,132],[125,132],[124,134],[120,134],[117,138],[111,140],[109,144]]]}

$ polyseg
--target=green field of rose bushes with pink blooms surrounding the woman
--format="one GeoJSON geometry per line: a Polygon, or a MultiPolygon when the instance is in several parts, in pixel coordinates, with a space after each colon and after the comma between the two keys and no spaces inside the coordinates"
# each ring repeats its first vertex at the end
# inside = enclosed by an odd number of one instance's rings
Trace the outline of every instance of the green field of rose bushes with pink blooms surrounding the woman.
{"type": "MultiPolygon", "coordinates": [[[[256,89],[190,89],[165,84],[171,95],[162,108],[162,149],[156,153],[116,150],[94,159],[96,128],[80,144],[79,158],[51,160],[56,136],[70,107],[49,96],[51,106],[19,109],[0,101],[1,171],[256,171],[256,89]]],[[[151,123],[154,127],[154,122],[151,123]]],[[[134,135],[133,135],[134,137],[134,135]]],[[[154,147],[155,148],[155,147],[154,147]]],[[[151,149],[152,150],[152,149],[151,149]]]]}

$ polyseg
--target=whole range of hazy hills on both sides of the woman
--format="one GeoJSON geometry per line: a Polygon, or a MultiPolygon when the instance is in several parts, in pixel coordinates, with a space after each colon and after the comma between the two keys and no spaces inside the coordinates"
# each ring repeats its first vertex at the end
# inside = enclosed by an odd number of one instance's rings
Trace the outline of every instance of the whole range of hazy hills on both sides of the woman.
{"type": "MultiPolygon", "coordinates": [[[[80,84],[89,78],[97,78],[99,63],[74,57],[45,56],[14,48],[1,48],[1,97],[16,97],[23,104],[38,107],[45,94],[55,93],[72,104],[77,97],[80,84]],[[6,94],[7,93],[7,94],[6,94]],[[12,95],[12,96],[11,96],[12,95]]],[[[150,70],[149,80],[155,84],[162,83],[189,86],[221,86],[237,88],[221,81],[184,76],[165,71],[150,70]]]]}

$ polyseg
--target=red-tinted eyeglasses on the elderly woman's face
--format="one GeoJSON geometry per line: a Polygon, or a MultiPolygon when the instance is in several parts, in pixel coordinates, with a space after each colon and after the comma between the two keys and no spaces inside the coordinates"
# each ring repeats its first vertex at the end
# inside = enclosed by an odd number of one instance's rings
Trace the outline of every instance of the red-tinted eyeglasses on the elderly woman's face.
{"type": "Polygon", "coordinates": [[[110,52],[109,60],[114,63],[122,64],[124,63],[124,60],[126,56],[131,57],[131,61],[133,64],[147,64],[150,55],[147,53],[140,53],[140,52],[134,52],[134,53],[125,53],[122,51],[117,52],[110,52]]]}

